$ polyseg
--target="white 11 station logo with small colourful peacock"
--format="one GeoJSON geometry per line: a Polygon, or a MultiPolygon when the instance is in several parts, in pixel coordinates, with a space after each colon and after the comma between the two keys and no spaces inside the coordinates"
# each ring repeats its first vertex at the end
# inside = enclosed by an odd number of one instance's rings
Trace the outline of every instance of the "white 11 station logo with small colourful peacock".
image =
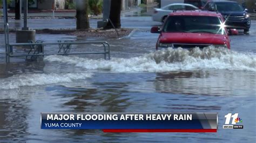
{"type": "Polygon", "coordinates": [[[236,125],[237,123],[242,123],[242,119],[238,117],[238,113],[235,113],[234,115],[232,115],[232,113],[228,113],[227,115],[225,115],[226,121],[225,121],[225,125],[223,125],[223,128],[244,128],[243,125],[236,125]],[[230,120],[232,118],[232,122],[230,125],[230,120]]]}

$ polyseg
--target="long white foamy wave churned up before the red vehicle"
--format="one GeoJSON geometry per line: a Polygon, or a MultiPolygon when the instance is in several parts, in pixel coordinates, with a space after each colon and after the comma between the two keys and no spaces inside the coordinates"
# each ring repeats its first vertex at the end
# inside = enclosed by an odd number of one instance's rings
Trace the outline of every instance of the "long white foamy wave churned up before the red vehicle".
{"type": "Polygon", "coordinates": [[[88,70],[110,70],[113,72],[166,72],[203,68],[256,71],[256,55],[239,53],[226,48],[206,47],[203,50],[168,48],[130,59],[112,58],[92,60],[86,58],[51,55],[44,58],[50,62],[61,62],[88,70]]]}

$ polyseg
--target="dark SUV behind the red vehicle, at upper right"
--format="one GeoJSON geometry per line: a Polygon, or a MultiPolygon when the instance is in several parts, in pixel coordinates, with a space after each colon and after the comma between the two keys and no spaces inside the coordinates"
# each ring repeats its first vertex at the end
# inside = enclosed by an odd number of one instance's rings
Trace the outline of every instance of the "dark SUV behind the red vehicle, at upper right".
{"type": "Polygon", "coordinates": [[[237,28],[244,30],[245,33],[249,32],[251,27],[250,15],[247,9],[244,9],[237,2],[208,2],[203,8],[208,11],[217,11],[225,18],[225,25],[227,28],[237,28]]]}

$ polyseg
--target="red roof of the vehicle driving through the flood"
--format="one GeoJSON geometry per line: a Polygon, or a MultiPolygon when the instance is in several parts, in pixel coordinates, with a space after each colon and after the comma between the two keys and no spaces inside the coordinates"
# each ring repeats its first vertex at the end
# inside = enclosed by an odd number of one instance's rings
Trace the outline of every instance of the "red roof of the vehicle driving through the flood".
{"type": "Polygon", "coordinates": [[[169,16],[213,16],[219,17],[220,13],[212,11],[202,11],[202,10],[178,10],[169,14],[169,16]]]}

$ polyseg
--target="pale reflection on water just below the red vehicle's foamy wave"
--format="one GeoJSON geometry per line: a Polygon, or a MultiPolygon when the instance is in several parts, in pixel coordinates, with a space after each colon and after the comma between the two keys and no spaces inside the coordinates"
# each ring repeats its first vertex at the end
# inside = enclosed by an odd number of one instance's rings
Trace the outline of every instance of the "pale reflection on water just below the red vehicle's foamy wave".
{"type": "Polygon", "coordinates": [[[172,94],[241,96],[255,95],[255,79],[254,72],[199,70],[180,73],[159,73],[154,85],[156,86],[156,91],[172,94]],[[241,75],[242,77],[239,77],[241,75]]]}

